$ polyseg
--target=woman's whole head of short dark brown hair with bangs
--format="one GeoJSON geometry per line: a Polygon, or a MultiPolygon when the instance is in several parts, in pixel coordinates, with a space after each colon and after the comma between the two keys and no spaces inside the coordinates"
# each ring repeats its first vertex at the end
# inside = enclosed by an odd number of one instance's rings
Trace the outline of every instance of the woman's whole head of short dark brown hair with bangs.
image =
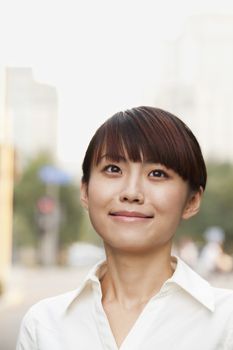
{"type": "Polygon", "coordinates": [[[114,161],[120,156],[130,161],[160,163],[173,169],[190,188],[206,186],[206,166],[196,137],[187,125],[173,114],[159,108],[137,107],[114,114],[94,134],[83,161],[84,183],[91,168],[107,154],[114,161]]]}

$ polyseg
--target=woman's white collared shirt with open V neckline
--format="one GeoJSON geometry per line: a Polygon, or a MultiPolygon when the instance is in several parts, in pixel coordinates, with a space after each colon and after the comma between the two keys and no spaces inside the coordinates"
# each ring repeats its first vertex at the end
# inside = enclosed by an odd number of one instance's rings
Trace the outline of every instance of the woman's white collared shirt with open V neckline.
{"type": "MultiPolygon", "coordinates": [[[[180,258],[120,350],[233,350],[233,291],[214,288],[180,258]]],[[[17,350],[117,350],[104,312],[99,279],[102,261],[81,286],[44,299],[25,315],[17,350]]]]}

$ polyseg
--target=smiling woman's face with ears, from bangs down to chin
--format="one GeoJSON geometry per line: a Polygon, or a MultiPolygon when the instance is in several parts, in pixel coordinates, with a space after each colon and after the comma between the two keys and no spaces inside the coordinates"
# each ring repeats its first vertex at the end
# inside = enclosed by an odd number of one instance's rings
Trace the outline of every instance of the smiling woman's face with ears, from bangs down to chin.
{"type": "Polygon", "coordinates": [[[102,157],[81,201],[103,241],[113,249],[145,252],[171,244],[182,218],[194,215],[201,191],[191,193],[176,172],[155,163],[102,157]]]}

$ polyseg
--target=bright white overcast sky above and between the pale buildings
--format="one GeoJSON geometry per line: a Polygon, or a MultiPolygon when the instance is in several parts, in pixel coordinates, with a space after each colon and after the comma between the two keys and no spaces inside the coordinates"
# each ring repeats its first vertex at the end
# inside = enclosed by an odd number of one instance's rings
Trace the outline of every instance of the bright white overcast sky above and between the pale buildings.
{"type": "Polygon", "coordinates": [[[0,65],[56,86],[58,156],[74,171],[107,117],[154,103],[161,44],[200,13],[233,13],[233,1],[0,0],[0,65]]]}

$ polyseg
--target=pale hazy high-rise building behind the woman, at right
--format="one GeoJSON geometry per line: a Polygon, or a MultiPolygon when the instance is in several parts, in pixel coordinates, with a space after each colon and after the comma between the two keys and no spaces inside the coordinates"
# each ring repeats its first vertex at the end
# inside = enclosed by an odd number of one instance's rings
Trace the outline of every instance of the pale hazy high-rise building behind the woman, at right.
{"type": "Polygon", "coordinates": [[[233,161],[233,16],[190,17],[164,47],[156,105],[180,115],[205,156],[233,161]]]}

